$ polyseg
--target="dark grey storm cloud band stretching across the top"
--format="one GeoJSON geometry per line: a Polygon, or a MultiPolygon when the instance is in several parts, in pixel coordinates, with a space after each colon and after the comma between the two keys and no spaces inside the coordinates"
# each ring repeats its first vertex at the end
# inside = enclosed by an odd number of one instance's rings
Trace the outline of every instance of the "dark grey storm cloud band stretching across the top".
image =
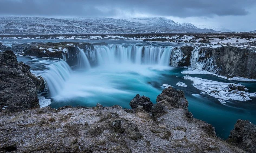
{"type": "Polygon", "coordinates": [[[251,12],[255,0],[0,0],[0,15],[122,17],[150,16],[211,17],[239,16],[251,12]]]}

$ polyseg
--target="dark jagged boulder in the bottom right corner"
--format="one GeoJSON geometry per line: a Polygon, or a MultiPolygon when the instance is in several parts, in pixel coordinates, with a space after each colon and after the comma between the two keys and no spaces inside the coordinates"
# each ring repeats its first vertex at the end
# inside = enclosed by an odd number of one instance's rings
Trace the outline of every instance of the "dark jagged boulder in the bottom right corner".
{"type": "Polygon", "coordinates": [[[256,152],[256,125],[248,120],[238,119],[234,129],[230,131],[228,141],[247,152],[256,152]]]}

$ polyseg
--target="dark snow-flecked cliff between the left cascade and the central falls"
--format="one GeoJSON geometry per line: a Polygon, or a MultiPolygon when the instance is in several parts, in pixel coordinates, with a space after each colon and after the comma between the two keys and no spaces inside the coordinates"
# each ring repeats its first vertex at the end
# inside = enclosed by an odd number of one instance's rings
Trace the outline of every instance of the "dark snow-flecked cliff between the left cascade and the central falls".
{"type": "Polygon", "coordinates": [[[60,58],[66,61],[70,66],[77,65],[77,56],[79,49],[89,55],[93,50],[93,45],[90,43],[75,43],[75,42],[58,42],[58,43],[36,43],[31,44],[16,44],[12,45],[11,50],[15,54],[24,56],[51,57],[60,58]]]}

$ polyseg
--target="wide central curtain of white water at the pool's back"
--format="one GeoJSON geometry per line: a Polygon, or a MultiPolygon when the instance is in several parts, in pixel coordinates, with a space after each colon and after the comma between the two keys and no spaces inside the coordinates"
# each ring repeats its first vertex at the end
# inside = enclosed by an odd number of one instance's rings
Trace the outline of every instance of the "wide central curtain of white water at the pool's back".
{"type": "Polygon", "coordinates": [[[145,64],[168,66],[170,62],[171,46],[96,46],[90,52],[90,61],[96,65],[109,64],[145,64]]]}

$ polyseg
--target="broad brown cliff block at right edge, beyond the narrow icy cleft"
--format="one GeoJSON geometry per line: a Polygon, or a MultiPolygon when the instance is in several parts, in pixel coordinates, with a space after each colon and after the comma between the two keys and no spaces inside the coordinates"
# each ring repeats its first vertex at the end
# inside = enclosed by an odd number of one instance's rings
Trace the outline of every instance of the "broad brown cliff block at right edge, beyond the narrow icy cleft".
{"type": "Polygon", "coordinates": [[[202,69],[219,75],[256,78],[256,52],[246,48],[200,48],[198,62],[202,69]]]}

